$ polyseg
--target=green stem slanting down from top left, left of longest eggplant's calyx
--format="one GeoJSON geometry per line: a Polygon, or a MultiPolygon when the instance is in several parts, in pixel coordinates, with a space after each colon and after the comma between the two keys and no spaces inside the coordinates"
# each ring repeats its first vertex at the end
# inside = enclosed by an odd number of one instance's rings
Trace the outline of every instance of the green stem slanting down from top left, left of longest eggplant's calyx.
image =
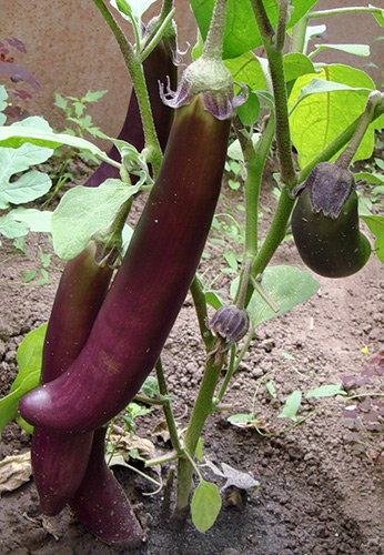
{"type": "Polygon", "coordinates": [[[105,22],[113,32],[120,47],[127,69],[131,75],[134,92],[138,98],[139,110],[145,138],[145,150],[148,152],[148,162],[152,164],[154,178],[158,175],[162,162],[162,152],[154,128],[151,103],[146,90],[145,77],[141,63],[140,52],[135,52],[132,44],[128,41],[124,32],[117,20],[105,7],[102,0],[93,0],[97,8],[102,13],[105,22]]]}

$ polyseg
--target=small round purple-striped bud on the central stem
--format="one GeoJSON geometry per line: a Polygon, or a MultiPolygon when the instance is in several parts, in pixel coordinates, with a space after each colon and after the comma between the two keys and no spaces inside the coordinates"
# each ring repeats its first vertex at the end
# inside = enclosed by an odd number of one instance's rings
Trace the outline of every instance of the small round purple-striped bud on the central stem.
{"type": "Polygon", "coordinates": [[[222,337],[230,347],[238,343],[250,327],[250,319],[245,309],[234,304],[221,306],[210,321],[209,327],[222,337]]]}

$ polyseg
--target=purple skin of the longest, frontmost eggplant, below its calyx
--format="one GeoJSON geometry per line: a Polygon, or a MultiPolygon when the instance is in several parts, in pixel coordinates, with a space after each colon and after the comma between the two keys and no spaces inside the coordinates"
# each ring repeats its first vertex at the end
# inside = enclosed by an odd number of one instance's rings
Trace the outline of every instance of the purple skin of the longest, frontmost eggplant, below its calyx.
{"type": "Polygon", "coordinates": [[[200,95],[176,110],[159,178],[84,349],[61,377],[21,400],[30,424],[95,430],[140,390],[198,268],[230,124],[206,112],[200,95]]]}

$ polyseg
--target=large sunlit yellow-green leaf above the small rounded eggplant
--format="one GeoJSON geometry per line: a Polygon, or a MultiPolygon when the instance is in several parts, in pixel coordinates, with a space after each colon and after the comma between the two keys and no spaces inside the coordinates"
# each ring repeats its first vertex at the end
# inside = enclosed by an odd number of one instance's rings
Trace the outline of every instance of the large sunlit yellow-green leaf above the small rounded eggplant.
{"type": "MultiPolygon", "coordinates": [[[[361,70],[343,64],[326,65],[317,73],[309,73],[296,80],[290,97],[290,109],[296,104],[303,89],[310,87],[306,91],[311,91],[310,83],[313,79],[316,80],[313,93],[302,98],[290,118],[292,141],[297,149],[301,167],[311,162],[362,114],[367,95],[374,89],[372,79],[361,70]],[[320,92],[320,80],[326,82],[323,92],[320,92]]],[[[383,124],[382,115],[368,127],[354,160],[370,158],[374,145],[374,129],[383,124]]]]}

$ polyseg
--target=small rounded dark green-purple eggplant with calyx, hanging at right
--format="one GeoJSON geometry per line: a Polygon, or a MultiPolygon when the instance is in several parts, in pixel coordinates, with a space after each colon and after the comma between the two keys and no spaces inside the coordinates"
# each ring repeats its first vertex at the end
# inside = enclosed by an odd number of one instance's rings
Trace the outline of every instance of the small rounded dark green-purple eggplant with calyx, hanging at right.
{"type": "Polygon", "coordinates": [[[303,262],[325,278],[358,272],[370,258],[371,245],[358,229],[352,172],[322,162],[293,193],[299,199],[292,213],[292,233],[303,262]]]}

